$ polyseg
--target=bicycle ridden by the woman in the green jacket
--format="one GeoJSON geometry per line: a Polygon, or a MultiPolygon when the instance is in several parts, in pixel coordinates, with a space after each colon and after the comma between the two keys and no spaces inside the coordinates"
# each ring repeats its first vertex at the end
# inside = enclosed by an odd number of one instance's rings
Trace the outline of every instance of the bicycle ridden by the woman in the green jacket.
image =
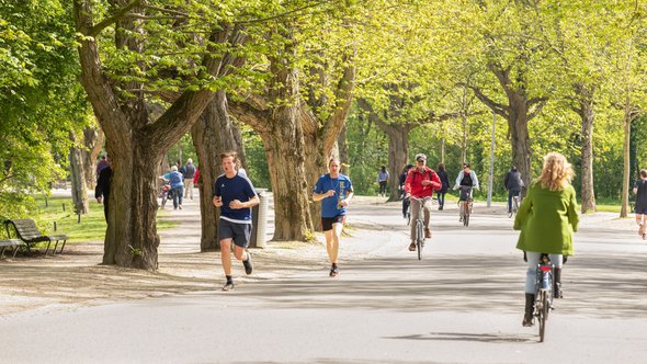
{"type": "Polygon", "coordinates": [[[548,254],[543,253],[537,264],[535,278],[535,304],[533,316],[537,318],[540,327],[540,342],[544,342],[546,321],[553,307],[553,274],[555,266],[550,263],[548,254]]]}

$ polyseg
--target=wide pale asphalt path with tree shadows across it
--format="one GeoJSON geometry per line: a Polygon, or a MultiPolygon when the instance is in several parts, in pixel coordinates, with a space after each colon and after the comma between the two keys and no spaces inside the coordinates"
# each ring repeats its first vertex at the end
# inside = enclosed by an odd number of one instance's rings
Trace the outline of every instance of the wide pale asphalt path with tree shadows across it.
{"type": "Polygon", "coordinates": [[[467,228],[454,206],[434,211],[418,261],[399,205],[357,198],[336,278],[325,262],[281,277],[261,265],[230,293],[3,315],[0,363],[646,363],[634,227],[582,216],[540,343],[521,326],[525,265],[502,208],[477,206],[467,228]]]}

